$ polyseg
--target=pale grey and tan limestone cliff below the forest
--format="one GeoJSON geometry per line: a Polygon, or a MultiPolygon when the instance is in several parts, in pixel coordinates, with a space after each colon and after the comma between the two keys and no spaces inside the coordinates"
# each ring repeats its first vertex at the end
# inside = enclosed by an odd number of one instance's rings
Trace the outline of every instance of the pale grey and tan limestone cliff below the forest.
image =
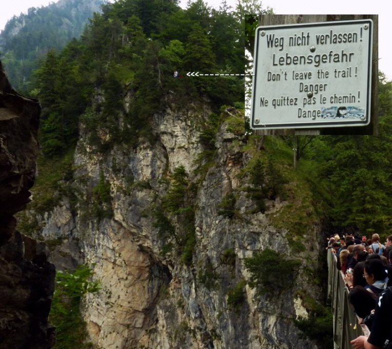
{"type": "MultiPolygon", "coordinates": [[[[292,318],[307,316],[304,290],[322,297],[314,283],[320,225],[304,228],[303,248],[295,250],[292,232],[280,223],[286,199],[266,200],[264,213],[254,210],[244,187],[257,144],[250,144],[243,126],[236,129],[243,125],[240,114],[224,113],[230,119],[220,125],[208,159],[200,142],[210,115],[205,105],[155,114],[155,142],[140,139],[136,149],[116,144],[97,152],[81,125],[73,163],[77,200],[64,196],[40,216],[41,235],[61,241],[51,256],[58,267],[88,263],[101,281],[103,288],[87,295],[82,309],[96,348],[316,348],[292,318]],[[184,218],[189,207],[166,215],[168,238],[156,212],[170,206],[164,201],[179,168],[194,217],[184,218]],[[220,211],[230,193],[236,194],[231,215],[220,211]],[[184,222],[192,223],[191,232],[184,222]],[[173,248],[165,250],[170,242],[173,248]],[[259,296],[245,286],[244,260],[266,248],[299,259],[301,268],[293,287],[259,296]],[[236,288],[243,293],[229,301],[236,288]]],[[[102,140],[115,137],[101,131],[102,140]]],[[[312,207],[300,205],[300,214],[310,216],[312,207]]]]}

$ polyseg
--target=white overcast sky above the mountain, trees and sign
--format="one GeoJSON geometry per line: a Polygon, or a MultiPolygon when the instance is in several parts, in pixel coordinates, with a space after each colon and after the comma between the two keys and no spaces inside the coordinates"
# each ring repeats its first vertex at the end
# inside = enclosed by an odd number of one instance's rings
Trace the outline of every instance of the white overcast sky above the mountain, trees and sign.
{"type": "MultiPolygon", "coordinates": [[[[50,0],[3,0],[0,11],[0,29],[4,29],[7,21],[13,15],[26,13],[30,7],[46,6],[53,1],[50,0]]],[[[219,8],[221,0],[205,0],[208,5],[219,8]]],[[[236,0],[226,0],[228,5],[236,6],[236,0]]],[[[187,0],[180,1],[183,8],[186,7],[187,0]]],[[[392,45],[390,35],[392,33],[392,23],[390,13],[392,13],[392,1],[388,0],[269,0],[263,2],[265,6],[272,7],[277,14],[379,14],[379,69],[383,71],[389,79],[392,79],[392,45]]]]}

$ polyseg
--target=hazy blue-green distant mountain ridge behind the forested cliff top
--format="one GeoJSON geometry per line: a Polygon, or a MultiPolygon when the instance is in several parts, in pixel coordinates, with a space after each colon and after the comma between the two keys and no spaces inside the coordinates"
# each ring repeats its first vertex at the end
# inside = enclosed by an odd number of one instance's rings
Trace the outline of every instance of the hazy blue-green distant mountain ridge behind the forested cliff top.
{"type": "Polygon", "coordinates": [[[8,77],[17,90],[27,90],[38,59],[49,49],[61,50],[79,38],[88,19],[101,12],[104,0],[60,0],[13,16],[0,33],[0,52],[8,77]]]}

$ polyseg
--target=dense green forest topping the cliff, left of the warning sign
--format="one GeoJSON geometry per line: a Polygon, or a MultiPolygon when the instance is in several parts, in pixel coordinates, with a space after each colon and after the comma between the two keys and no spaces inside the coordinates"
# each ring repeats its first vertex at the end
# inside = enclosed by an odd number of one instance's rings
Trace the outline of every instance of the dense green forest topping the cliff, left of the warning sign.
{"type": "Polygon", "coordinates": [[[80,119],[91,131],[91,144],[105,150],[151,138],[153,115],[169,104],[180,109],[208,99],[215,111],[233,103],[243,108],[243,77],[186,76],[243,74],[241,13],[213,10],[202,0],[186,10],[170,0],[121,0],[102,10],[80,40],[61,53],[50,51],[35,72],[30,94],[43,105],[45,155],[58,156],[75,145],[80,119]],[[173,78],[174,70],[179,78],[173,78]],[[125,111],[127,94],[131,103],[125,111]],[[100,129],[115,137],[100,138],[100,129]]]}

